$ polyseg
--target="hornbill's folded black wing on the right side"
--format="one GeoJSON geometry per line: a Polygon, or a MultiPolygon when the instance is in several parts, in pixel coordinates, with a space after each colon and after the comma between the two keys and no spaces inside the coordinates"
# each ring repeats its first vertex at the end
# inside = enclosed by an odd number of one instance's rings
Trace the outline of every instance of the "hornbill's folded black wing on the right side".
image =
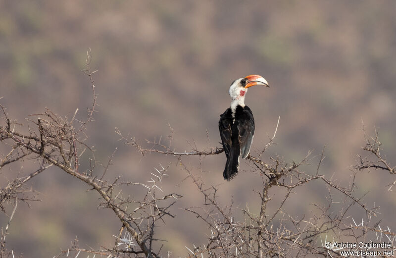
{"type": "Polygon", "coordinates": [[[246,158],[250,152],[254,135],[253,113],[247,105],[244,108],[244,112],[240,114],[238,121],[238,139],[241,146],[241,156],[242,158],[246,158]]]}

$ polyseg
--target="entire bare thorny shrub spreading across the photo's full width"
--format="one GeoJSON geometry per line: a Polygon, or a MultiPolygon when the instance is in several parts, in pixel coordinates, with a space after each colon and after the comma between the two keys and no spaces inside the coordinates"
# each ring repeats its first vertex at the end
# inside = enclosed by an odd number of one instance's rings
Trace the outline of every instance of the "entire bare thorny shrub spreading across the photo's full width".
{"type": "MultiPolygon", "coordinates": [[[[84,249],[76,240],[57,257],[77,257],[80,253],[114,258],[171,256],[157,242],[154,230],[158,223],[174,217],[172,206],[182,197],[177,193],[164,193],[161,189],[161,184],[166,184],[164,179],[169,166],[157,167],[146,183],[121,181],[120,176],[111,174],[110,165],[114,153],[109,160],[103,162],[106,165],[101,166],[91,148],[85,144],[88,137],[87,124],[93,121],[97,105],[93,80],[95,71],[91,72],[90,63],[89,51],[84,72],[90,79],[93,103],[88,108],[88,116],[84,121],[75,118],[78,110],[69,119],[47,109],[43,113],[30,115],[28,124],[23,125],[9,118],[5,107],[1,105],[0,143],[8,151],[1,154],[0,173],[5,167],[10,168],[11,164],[23,163],[26,159],[34,160],[39,165],[29,173],[16,172],[12,180],[1,186],[0,208],[9,218],[1,230],[1,257],[13,257],[12,250],[6,248],[6,236],[13,215],[17,212],[18,203],[29,204],[39,200],[37,193],[30,188],[29,181],[35,176],[46,176],[43,172],[51,166],[83,181],[87,189],[95,191],[99,196],[99,206],[112,210],[120,222],[114,243],[107,243],[98,249],[84,249]],[[28,133],[22,133],[26,130],[28,133]],[[79,160],[85,152],[90,153],[90,167],[81,171],[79,160]],[[135,186],[146,189],[142,198],[123,195],[123,189],[135,186]]],[[[172,147],[172,136],[168,139],[168,144],[147,141],[142,145],[135,138],[124,137],[120,131],[117,133],[124,144],[136,148],[143,157],[147,153],[169,155],[170,159],[173,156],[185,171],[186,178],[193,182],[196,191],[201,195],[202,204],[184,209],[207,226],[208,235],[205,242],[186,247],[186,257],[346,257],[343,251],[362,249],[327,246],[326,243],[368,243],[384,239],[391,243],[387,250],[395,250],[395,232],[388,226],[380,225],[381,220],[377,218],[378,207],[368,207],[363,196],[355,194],[358,186],[354,179],[359,176],[358,170],[372,168],[395,174],[395,167],[380,153],[378,134],[373,138],[366,136],[363,150],[368,155],[357,156],[358,164],[354,166],[350,181],[342,186],[321,172],[325,149],[319,156],[311,157],[308,152],[302,160],[291,163],[281,156],[267,157],[266,150],[273,144],[278,125],[279,120],[268,144],[254,156],[248,157],[252,172],[262,182],[261,191],[256,193],[260,200],[258,214],[250,212],[249,207],[239,208],[220,203],[216,196],[218,189],[203,181],[199,173],[200,167],[190,167],[184,161],[185,156],[195,155],[201,164],[202,156],[221,154],[222,148],[201,151],[192,148],[190,152],[176,152],[172,147]],[[313,166],[309,162],[315,160],[315,172],[305,172],[303,167],[313,166]],[[285,203],[296,194],[297,188],[306,187],[312,182],[318,182],[327,189],[327,203],[311,204],[311,214],[298,217],[294,210],[285,207],[285,203]],[[270,192],[284,196],[283,201],[274,203],[270,192]],[[267,209],[269,204],[276,207],[275,211],[267,209]],[[353,218],[351,210],[357,210],[364,215],[353,218]],[[241,213],[243,219],[236,219],[237,213],[241,213]]],[[[389,185],[389,189],[395,182],[389,185]]],[[[299,198],[305,199],[304,196],[299,198]]]]}

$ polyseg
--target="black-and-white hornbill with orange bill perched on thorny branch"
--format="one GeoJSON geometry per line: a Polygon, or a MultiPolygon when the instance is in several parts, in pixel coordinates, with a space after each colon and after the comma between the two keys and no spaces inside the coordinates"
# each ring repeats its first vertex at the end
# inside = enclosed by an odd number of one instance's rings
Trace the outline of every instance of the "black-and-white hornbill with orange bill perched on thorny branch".
{"type": "Polygon", "coordinates": [[[260,75],[252,74],[232,82],[229,90],[231,105],[220,115],[219,131],[227,162],[223,177],[230,181],[239,170],[239,158],[247,158],[254,135],[254,117],[245,105],[245,95],[251,86],[269,87],[260,75]]]}

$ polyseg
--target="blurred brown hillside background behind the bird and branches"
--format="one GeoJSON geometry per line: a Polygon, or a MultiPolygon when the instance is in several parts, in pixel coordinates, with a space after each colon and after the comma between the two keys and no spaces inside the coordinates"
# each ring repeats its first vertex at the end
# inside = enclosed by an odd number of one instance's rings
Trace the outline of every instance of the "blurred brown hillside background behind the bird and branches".
{"type": "MultiPolygon", "coordinates": [[[[188,180],[178,185],[186,175],[175,158],[142,158],[118,141],[115,128],[142,144],[160,136],[166,144],[171,125],[172,144],[181,152],[191,150],[194,141],[200,150],[220,146],[217,123],[230,104],[231,82],[260,74],[271,88],[247,93],[256,121],[253,155],[268,142],[280,116],[277,145],[264,156],[293,161],[308,150],[320,154],[326,145],[322,173],[343,182],[364,145],[363,120],[369,134],[380,127],[384,153],[395,164],[395,11],[392,0],[0,0],[0,103],[22,123],[45,107],[68,117],[79,108],[77,116],[86,117],[92,95],[81,69],[91,48],[92,69],[99,70],[94,77],[99,112],[89,125],[88,144],[103,163],[118,147],[111,173],[126,180],[145,182],[153,167],[171,163],[163,187],[185,197],[175,208],[176,219],[167,220],[157,237],[172,240],[164,250],[184,256],[184,246],[199,245],[207,232],[178,207],[199,206],[202,197],[188,180]]],[[[188,160],[194,165],[198,157],[188,160]]],[[[306,169],[314,170],[315,162],[306,169]]],[[[234,180],[224,181],[224,163],[224,154],[205,157],[204,181],[218,186],[224,204],[233,196],[234,205],[257,211],[253,190],[262,184],[246,161],[234,180]]],[[[82,247],[114,243],[120,225],[109,210],[97,209],[97,196],[57,169],[45,173],[32,186],[43,201],[18,206],[7,237],[14,254],[52,257],[76,236],[82,247]]],[[[0,182],[5,180],[1,175],[0,182]]],[[[381,206],[381,218],[391,228],[396,198],[385,185],[394,180],[373,171],[356,181],[357,193],[370,192],[364,200],[381,206]]],[[[139,190],[131,187],[131,194],[139,190]]],[[[325,202],[325,188],[313,184],[304,191],[306,199],[288,204],[296,214],[309,212],[312,202],[325,202]]],[[[1,226],[5,221],[2,214],[1,226]]]]}

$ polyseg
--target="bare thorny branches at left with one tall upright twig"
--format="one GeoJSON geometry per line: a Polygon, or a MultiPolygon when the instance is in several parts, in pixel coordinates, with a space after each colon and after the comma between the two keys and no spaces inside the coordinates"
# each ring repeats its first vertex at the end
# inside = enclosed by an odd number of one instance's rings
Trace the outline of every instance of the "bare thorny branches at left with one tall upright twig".
{"type": "MultiPolygon", "coordinates": [[[[105,249],[103,251],[105,254],[113,257],[118,257],[120,254],[135,254],[137,256],[144,254],[148,258],[160,257],[154,251],[153,242],[157,241],[153,237],[154,227],[157,223],[164,222],[166,217],[174,217],[169,209],[175,201],[171,202],[170,200],[177,200],[181,196],[175,193],[162,194],[160,185],[163,178],[167,176],[168,167],[161,166],[161,168],[156,169],[151,173],[152,177],[146,184],[119,182],[119,177],[108,182],[109,179],[106,177],[106,172],[112,162],[113,154],[107,165],[103,167],[103,171],[99,171],[100,163],[96,161],[94,152],[85,143],[87,139],[85,134],[86,125],[94,121],[93,115],[97,106],[97,95],[93,79],[93,74],[96,71],[91,72],[90,64],[91,51],[89,50],[84,73],[91,82],[93,102],[92,106],[88,108],[88,116],[84,121],[75,118],[78,109],[71,120],[67,119],[67,117],[60,117],[47,109],[43,113],[31,115],[31,117],[37,118],[28,119],[28,123],[30,123],[28,125],[29,132],[23,134],[18,130],[19,126],[23,125],[9,119],[6,109],[0,105],[1,119],[4,121],[4,125],[0,124],[0,142],[9,149],[8,153],[1,157],[0,169],[17,161],[23,162],[24,158],[37,160],[40,164],[37,170],[26,176],[11,180],[0,189],[0,207],[5,213],[5,205],[8,205],[9,200],[15,200],[15,209],[18,201],[28,202],[36,200],[34,196],[31,196],[31,190],[26,188],[28,181],[51,166],[57,167],[61,171],[85,182],[91,190],[96,191],[101,198],[99,207],[109,208],[113,211],[121,222],[122,228],[126,230],[130,242],[133,243],[125,246],[123,244],[125,241],[119,238],[116,241],[116,247],[105,249]],[[78,123],[79,126],[76,127],[75,123],[78,123]],[[34,125],[33,127],[31,126],[32,124],[34,125]],[[79,158],[86,150],[91,151],[92,154],[91,166],[85,171],[80,171],[79,158]],[[135,200],[130,196],[123,195],[122,187],[131,185],[146,189],[144,190],[146,194],[142,199],[135,200]]],[[[2,255],[8,254],[5,250],[7,229],[8,225],[5,232],[2,232],[1,239],[2,243],[4,243],[1,249],[2,255]]],[[[81,251],[77,246],[72,246],[70,250],[81,251]]],[[[91,253],[95,252],[95,250],[91,250],[91,253]]]]}

